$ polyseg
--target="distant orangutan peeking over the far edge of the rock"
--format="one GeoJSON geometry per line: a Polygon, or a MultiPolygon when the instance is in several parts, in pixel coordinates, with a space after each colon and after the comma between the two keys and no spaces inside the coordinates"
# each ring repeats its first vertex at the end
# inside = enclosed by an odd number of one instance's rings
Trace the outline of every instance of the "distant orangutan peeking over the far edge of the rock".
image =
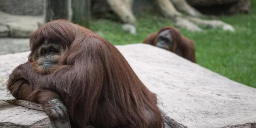
{"type": "Polygon", "coordinates": [[[194,42],[181,35],[176,28],[163,27],[158,32],[148,35],[143,43],[175,52],[177,55],[196,63],[194,42]]]}

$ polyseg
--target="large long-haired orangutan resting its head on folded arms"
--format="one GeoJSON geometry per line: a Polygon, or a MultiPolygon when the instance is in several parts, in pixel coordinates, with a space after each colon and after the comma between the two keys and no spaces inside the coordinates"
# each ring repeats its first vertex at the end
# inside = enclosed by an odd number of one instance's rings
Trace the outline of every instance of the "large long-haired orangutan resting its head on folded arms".
{"type": "Polygon", "coordinates": [[[34,32],[30,47],[29,61],[9,76],[15,98],[39,102],[51,119],[69,113],[73,127],[163,127],[156,95],[105,39],[54,20],[34,32]]]}

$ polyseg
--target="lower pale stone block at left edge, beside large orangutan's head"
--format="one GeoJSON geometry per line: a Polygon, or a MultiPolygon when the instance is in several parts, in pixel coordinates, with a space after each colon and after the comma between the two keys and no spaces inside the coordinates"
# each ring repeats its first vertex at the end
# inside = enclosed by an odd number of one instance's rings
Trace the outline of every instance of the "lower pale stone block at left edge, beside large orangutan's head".
{"type": "Polygon", "coordinates": [[[29,38],[0,38],[0,55],[29,51],[29,38]]]}

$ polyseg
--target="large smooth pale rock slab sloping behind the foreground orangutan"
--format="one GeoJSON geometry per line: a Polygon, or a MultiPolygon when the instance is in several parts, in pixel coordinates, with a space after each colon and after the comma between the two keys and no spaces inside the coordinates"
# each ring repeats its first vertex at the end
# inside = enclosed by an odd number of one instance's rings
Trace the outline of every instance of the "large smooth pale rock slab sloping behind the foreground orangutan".
{"type": "MultiPolygon", "coordinates": [[[[172,128],[256,128],[255,88],[147,44],[117,48],[141,81],[157,94],[165,122],[172,128]]],[[[28,55],[0,55],[2,90],[8,75],[26,62],[28,55]]]]}

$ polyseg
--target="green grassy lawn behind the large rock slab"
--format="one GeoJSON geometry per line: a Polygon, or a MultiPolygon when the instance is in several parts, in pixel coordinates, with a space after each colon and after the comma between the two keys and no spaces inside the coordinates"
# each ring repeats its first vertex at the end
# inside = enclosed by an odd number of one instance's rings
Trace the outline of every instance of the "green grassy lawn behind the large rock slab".
{"type": "MultiPolygon", "coordinates": [[[[220,29],[205,29],[204,32],[189,32],[180,29],[183,35],[195,41],[197,63],[234,81],[256,87],[256,0],[252,1],[249,15],[220,16],[233,25],[236,32],[220,29]]],[[[136,14],[137,35],[122,30],[121,22],[93,19],[90,29],[99,32],[114,45],[141,43],[145,37],[163,26],[173,26],[162,15],[136,14]]]]}

